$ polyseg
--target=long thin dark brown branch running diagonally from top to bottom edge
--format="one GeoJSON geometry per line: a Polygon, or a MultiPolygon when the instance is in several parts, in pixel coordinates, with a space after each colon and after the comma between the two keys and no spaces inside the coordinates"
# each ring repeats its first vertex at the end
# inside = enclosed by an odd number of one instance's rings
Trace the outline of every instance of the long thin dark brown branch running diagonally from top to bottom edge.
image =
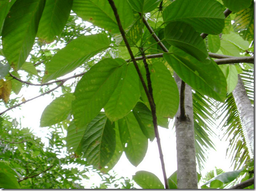
{"type": "Polygon", "coordinates": [[[158,128],[157,127],[157,121],[154,121],[155,119],[157,119],[157,115],[155,113],[155,104],[154,104],[154,101],[153,101],[152,97],[150,96],[150,93],[148,91],[147,85],[144,82],[144,79],[142,77],[142,73],[139,71],[139,67],[138,67],[137,62],[135,61],[133,52],[130,49],[129,43],[128,43],[127,38],[126,38],[126,33],[124,32],[124,29],[122,27],[122,23],[121,23],[121,20],[119,18],[119,15],[118,15],[118,12],[117,12],[117,8],[116,8],[116,6],[114,4],[114,1],[113,0],[108,0],[108,2],[109,2],[109,4],[111,5],[111,7],[113,9],[114,16],[116,17],[117,24],[118,24],[118,27],[119,27],[119,31],[122,34],[124,43],[126,44],[128,52],[130,54],[130,58],[132,59],[132,62],[133,62],[134,66],[135,66],[135,68],[137,70],[137,73],[138,73],[139,78],[140,78],[140,82],[142,83],[142,86],[144,88],[144,91],[145,91],[145,93],[147,95],[147,98],[148,98],[148,101],[149,101],[149,104],[150,104],[150,108],[151,108],[151,112],[152,112],[152,116],[153,116],[153,124],[154,124],[154,129],[155,129],[155,137],[157,138],[157,143],[158,143],[158,148],[159,148],[159,155],[160,155],[159,157],[160,157],[160,161],[161,161],[161,165],[162,165],[162,171],[163,171],[163,176],[164,176],[165,188],[168,189],[169,188],[168,187],[168,180],[167,180],[167,175],[165,173],[164,160],[163,160],[163,152],[162,152],[162,148],[161,148],[161,145],[160,145],[160,138],[159,138],[158,129],[157,129],[158,128]]]}

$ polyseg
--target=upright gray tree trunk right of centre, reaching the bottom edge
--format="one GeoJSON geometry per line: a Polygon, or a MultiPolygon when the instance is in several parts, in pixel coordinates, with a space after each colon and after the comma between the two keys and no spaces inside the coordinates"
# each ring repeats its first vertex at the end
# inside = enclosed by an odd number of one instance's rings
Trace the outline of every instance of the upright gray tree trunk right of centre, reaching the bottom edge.
{"type": "MultiPolygon", "coordinates": [[[[181,79],[174,73],[175,81],[180,91],[181,79]]],[[[198,189],[197,168],[195,162],[195,138],[192,89],[185,84],[185,114],[181,119],[180,108],[175,115],[175,132],[177,142],[177,182],[178,189],[198,189]]]]}

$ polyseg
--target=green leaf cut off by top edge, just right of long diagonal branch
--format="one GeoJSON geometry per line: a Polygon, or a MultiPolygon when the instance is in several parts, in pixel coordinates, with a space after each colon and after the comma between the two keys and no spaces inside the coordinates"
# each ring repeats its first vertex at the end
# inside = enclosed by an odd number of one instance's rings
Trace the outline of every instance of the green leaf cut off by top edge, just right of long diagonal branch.
{"type": "Polygon", "coordinates": [[[162,0],[128,0],[130,6],[139,13],[148,13],[157,8],[162,0]]]}

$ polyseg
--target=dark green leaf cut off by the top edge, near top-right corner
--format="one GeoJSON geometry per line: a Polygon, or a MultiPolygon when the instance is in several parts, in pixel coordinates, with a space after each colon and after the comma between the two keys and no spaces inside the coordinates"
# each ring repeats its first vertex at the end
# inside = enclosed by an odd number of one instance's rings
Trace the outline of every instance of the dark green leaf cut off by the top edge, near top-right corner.
{"type": "Polygon", "coordinates": [[[226,6],[232,12],[238,12],[242,9],[246,9],[250,6],[251,0],[222,0],[224,6],[226,6]]]}

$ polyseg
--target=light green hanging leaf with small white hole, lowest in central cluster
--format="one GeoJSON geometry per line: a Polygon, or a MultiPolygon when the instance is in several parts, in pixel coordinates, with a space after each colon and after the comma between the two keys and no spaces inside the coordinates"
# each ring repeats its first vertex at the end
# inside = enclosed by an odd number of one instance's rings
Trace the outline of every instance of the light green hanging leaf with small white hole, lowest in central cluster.
{"type": "Polygon", "coordinates": [[[139,124],[132,113],[119,119],[118,127],[126,157],[130,163],[137,167],[147,153],[148,139],[140,130],[139,124]]]}

